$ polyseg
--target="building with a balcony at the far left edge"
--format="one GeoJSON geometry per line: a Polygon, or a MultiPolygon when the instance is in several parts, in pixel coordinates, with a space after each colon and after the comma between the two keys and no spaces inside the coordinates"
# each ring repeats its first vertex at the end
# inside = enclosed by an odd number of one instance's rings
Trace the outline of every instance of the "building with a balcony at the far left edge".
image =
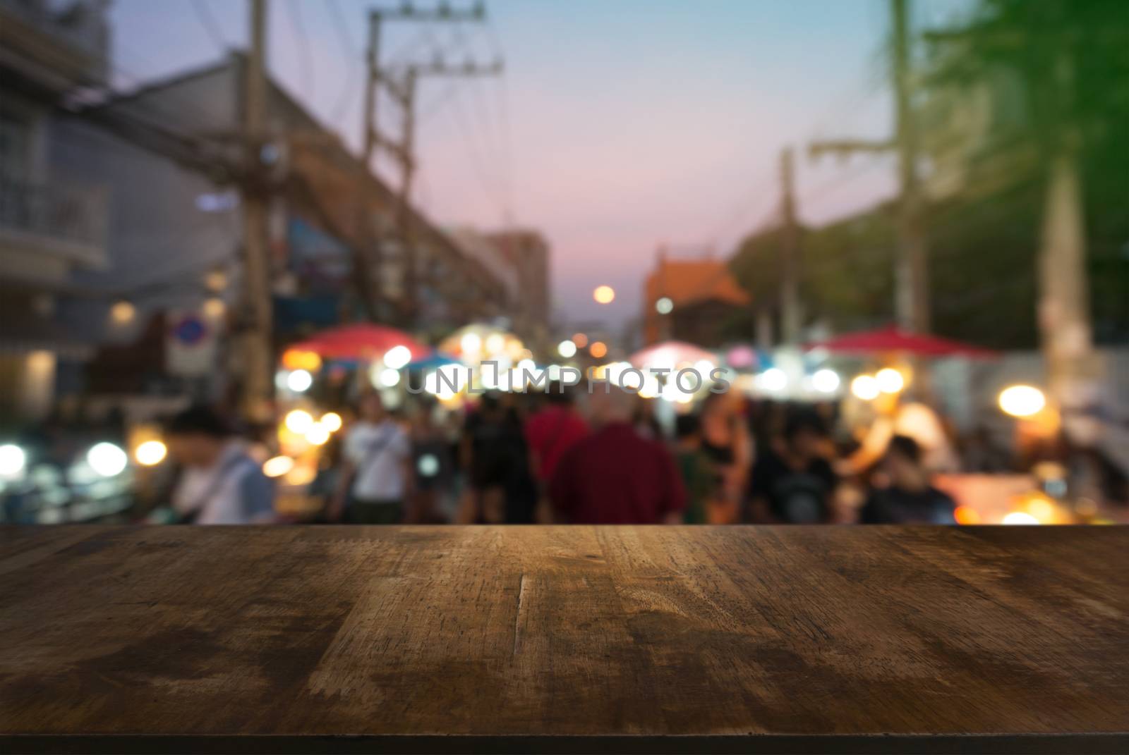
{"type": "Polygon", "coordinates": [[[54,319],[77,270],[107,262],[106,187],[53,169],[50,123],[105,82],[106,2],[0,0],[0,422],[43,415],[58,355],[85,345],[54,319]]]}

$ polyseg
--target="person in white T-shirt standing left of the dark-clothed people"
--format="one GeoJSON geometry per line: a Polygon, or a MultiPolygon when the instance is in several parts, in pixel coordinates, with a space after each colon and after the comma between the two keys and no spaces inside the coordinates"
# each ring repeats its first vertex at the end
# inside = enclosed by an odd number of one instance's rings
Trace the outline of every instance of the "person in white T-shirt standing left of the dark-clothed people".
{"type": "Polygon", "coordinates": [[[344,468],[330,519],[391,525],[403,520],[411,492],[411,440],[384,410],[379,394],[361,397],[360,419],[345,433],[344,468]]]}

